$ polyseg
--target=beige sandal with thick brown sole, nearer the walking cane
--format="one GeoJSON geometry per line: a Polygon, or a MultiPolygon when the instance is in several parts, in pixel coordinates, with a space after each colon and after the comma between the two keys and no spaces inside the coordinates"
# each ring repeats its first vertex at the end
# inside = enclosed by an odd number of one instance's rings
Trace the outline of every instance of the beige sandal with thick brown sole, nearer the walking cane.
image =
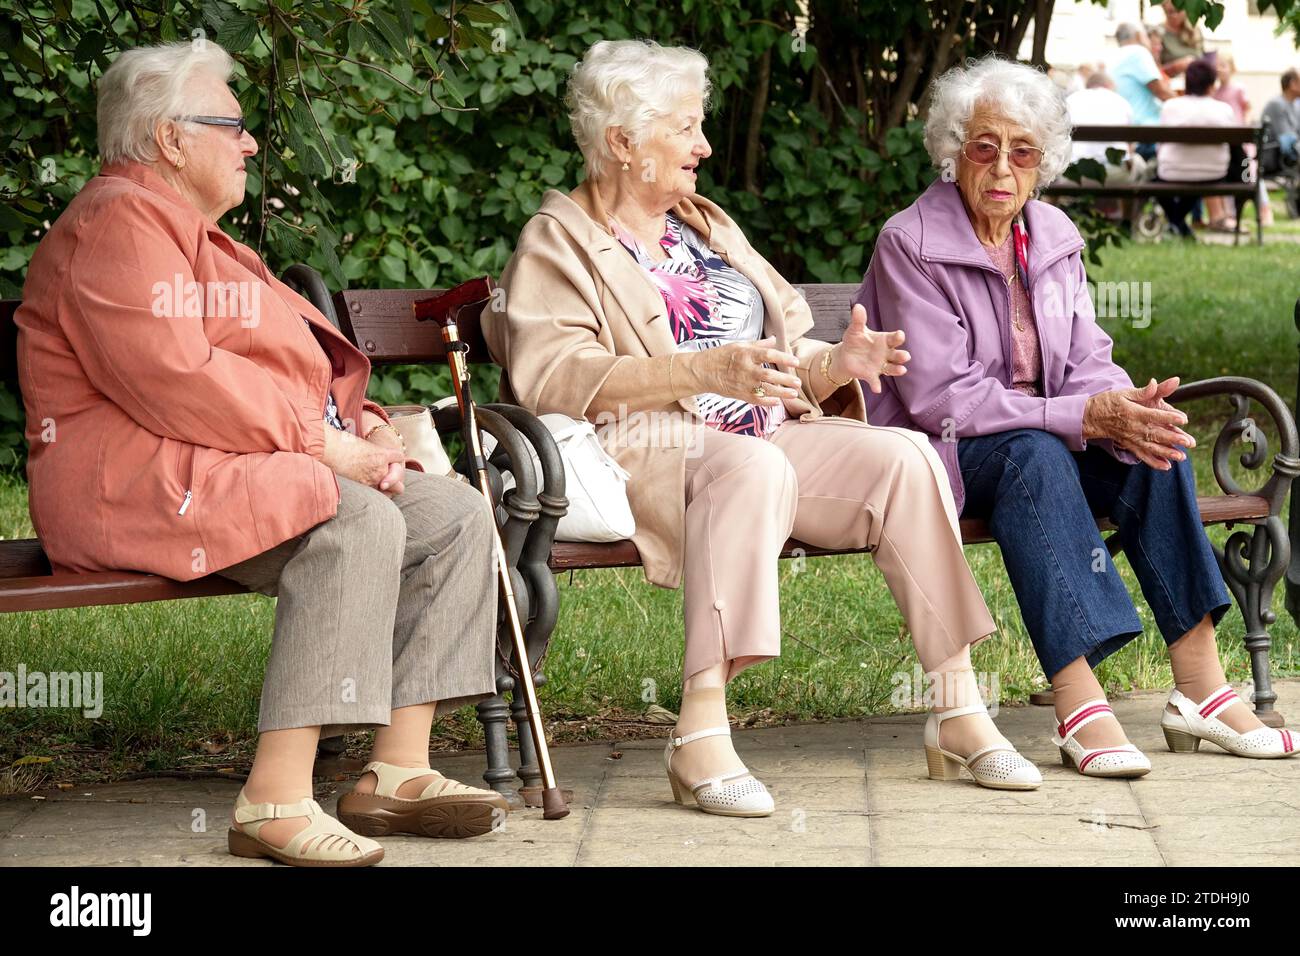
{"type": "Polygon", "coordinates": [[[367,836],[480,836],[510,812],[506,797],[497,791],[467,787],[428,767],[399,767],[370,761],[364,771],[378,778],[374,792],[358,793],[354,790],[341,796],[338,818],[367,836]],[[430,774],[434,779],[420,796],[410,799],[396,795],[398,787],[407,780],[430,774]]]}

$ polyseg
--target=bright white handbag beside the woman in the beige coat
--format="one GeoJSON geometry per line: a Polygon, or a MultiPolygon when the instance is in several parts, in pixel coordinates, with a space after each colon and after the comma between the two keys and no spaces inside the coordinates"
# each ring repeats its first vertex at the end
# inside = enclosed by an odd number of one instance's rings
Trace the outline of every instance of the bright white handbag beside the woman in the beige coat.
{"type": "MultiPolygon", "coordinates": [[[[623,541],[636,533],[637,523],[628,503],[628,475],[610,458],[595,436],[590,421],[568,415],[538,415],[538,420],[555,438],[564,462],[564,497],[569,506],[555,529],[556,541],[623,541]]],[[[533,467],[542,473],[542,463],[533,455],[533,467]]],[[[504,486],[514,488],[510,475],[504,486]]]]}

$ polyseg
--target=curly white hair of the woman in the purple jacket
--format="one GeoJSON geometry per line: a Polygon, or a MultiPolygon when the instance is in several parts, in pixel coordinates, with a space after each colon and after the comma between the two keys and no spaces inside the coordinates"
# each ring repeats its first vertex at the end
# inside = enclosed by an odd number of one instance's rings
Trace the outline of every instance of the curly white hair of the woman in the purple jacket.
{"type": "Polygon", "coordinates": [[[1035,193],[1070,165],[1072,127],[1061,87],[1032,66],[985,56],[954,66],[931,87],[926,151],[940,169],[956,168],[976,104],[996,109],[1037,140],[1043,163],[1035,193]]]}

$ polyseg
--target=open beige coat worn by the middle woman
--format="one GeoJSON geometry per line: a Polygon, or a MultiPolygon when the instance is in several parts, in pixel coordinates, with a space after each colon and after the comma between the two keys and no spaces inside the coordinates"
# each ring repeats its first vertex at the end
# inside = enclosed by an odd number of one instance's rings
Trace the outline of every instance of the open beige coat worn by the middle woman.
{"type": "MultiPolygon", "coordinates": [[[[767,312],[764,336],[774,336],[777,349],[798,358],[802,394],[786,399],[786,411],[805,421],[822,415],[866,421],[857,381],[816,401],[812,376],[820,375],[816,363],[829,345],[805,338],[812,313],[803,297],[754,251],[727,213],[702,196],[682,200],[673,213],[754,284],[767,312]]],[[[506,369],[502,401],[536,415],[562,412],[599,424],[588,410],[618,363],[676,351],[663,297],[610,233],[607,219],[599,193],[588,181],[571,195],[549,190],[524,226],[500,277],[504,294],[484,312],[488,347],[506,369]]],[[[630,423],[599,429],[601,438],[632,476],[633,542],[646,579],[676,588],[685,535],[686,446],[692,427],[703,418],[693,398],[630,418],[630,423]]]]}

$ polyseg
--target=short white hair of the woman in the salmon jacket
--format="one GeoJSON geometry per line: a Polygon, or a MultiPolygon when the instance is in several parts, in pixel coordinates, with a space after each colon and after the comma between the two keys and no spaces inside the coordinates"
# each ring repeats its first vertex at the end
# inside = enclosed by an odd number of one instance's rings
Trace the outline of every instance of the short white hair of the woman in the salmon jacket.
{"type": "Polygon", "coordinates": [[[153,131],[165,120],[194,113],[190,79],[209,73],[230,81],[234,60],[212,40],[177,40],[118,55],[99,78],[99,155],[104,163],[159,159],[153,131]]]}

